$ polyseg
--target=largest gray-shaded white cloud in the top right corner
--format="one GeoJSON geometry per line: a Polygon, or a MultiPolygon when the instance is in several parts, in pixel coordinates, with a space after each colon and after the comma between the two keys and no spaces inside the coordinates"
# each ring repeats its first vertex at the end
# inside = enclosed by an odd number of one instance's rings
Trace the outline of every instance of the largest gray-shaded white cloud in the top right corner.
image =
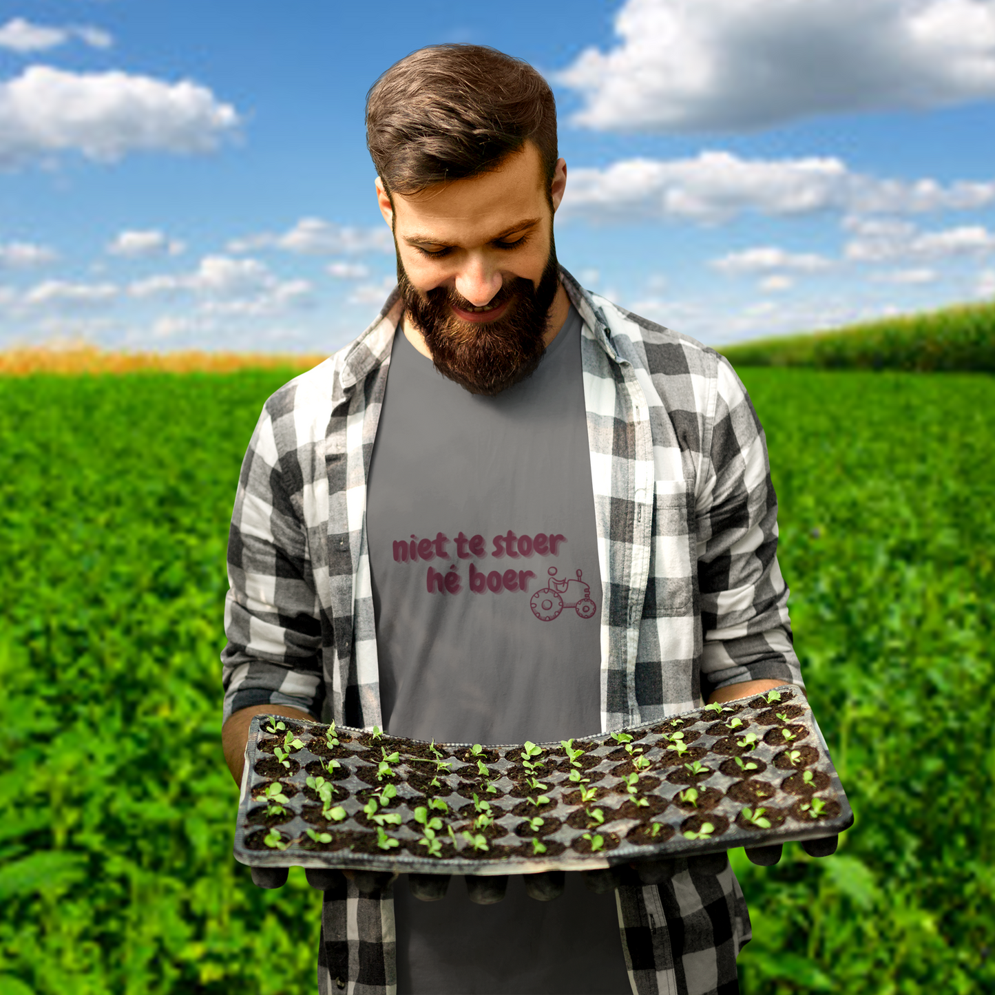
{"type": "Polygon", "coordinates": [[[990,0],[628,0],[615,31],[557,75],[588,127],[739,131],[995,96],[990,0]]]}

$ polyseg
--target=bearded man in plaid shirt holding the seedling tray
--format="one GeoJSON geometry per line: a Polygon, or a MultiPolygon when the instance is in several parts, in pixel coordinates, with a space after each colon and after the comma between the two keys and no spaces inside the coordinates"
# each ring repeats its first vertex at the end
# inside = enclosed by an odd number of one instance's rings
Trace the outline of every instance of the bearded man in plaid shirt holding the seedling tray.
{"type": "MultiPolygon", "coordinates": [[[[266,403],[229,544],[224,741],[252,716],[554,741],[803,687],[760,425],[728,362],[583,290],[552,94],[433,46],[367,98],[398,287],[266,403]]],[[[318,989],[738,991],[724,855],[555,901],[324,893],[318,989]]]]}

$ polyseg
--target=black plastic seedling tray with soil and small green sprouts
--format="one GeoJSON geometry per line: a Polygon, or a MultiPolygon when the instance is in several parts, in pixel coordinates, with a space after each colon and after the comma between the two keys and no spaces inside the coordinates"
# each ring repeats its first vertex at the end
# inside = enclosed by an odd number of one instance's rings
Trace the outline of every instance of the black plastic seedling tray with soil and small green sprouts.
{"type": "Polygon", "coordinates": [[[777,697],[767,693],[726,702],[720,710],[712,705],[614,734],[577,737],[571,749],[581,752],[572,764],[560,742],[526,744],[532,747],[532,770],[523,761],[522,753],[529,750],[522,744],[487,746],[475,755],[468,743],[430,744],[257,715],[246,748],[235,858],[260,868],[489,876],[592,871],[834,837],[853,825],[854,815],[826,741],[797,689],[775,691],[777,697]],[[278,721],[285,728],[277,735],[265,731],[278,721]],[[329,728],[336,745],[328,745],[329,728]],[[302,745],[295,748],[296,743],[302,745]],[[392,761],[384,760],[395,753],[392,761]],[[439,770],[440,759],[449,764],[448,771],[439,770]],[[754,769],[744,769],[751,763],[754,769]],[[571,770],[586,782],[571,782],[571,770]],[[635,793],[628,790],[632,774],[637,775],[635,793]],[[545,787],[530,786],[526,779],[531,776],[545,787]],[[308,787],[307,779],[313,784],[316,777],[331,782],[330,804],[322,804],[308,787]],[[431,783],[434,779],[437,785],[431,783]],[[279,789],[271,787],[277,782],[279,789]],[[382,790],[389,784],[396,795],[386,798],[382,790]],[[580,787],[593,789],[594,797],[582,802],[580,787]],[[697,799],[687,793],[689,788],[697,799]],[[286,798],[277,806],[283,812],[273,811],[267,802],[268,789],[280,790],[286,798]],[[364,812],[377,795],[381,802],[374,815],[394,816],[379,827],[364,812]],[[535,804],[540,797],[548,801],[535,804]],[[429,807],[430,799],[444,802],[445,810],[429,807]],[[637,804],[640,799],[646,804],[637,804]],[[479,819],[483,801],[494,821],[482,827],[480,822],[487,821],[479,819]],[[322,818],[322,811],[332,808],[339,810],[338,818],[322,818]],[[420,808],[427,812],[418,822],[420,808]],[[592,815],[596,809],[601,823],[592,815]],[[764,811],[758,815],[758,809],[764,811]],[[542,825],[528,828],[526,820],[536,816],[542,825]],[[438,856],[428,856],[419,842],[431,818],[439,819],[434,830],[441,841],[438,856]],[[388,839],[396,845],[381,849],[388,839]]]}

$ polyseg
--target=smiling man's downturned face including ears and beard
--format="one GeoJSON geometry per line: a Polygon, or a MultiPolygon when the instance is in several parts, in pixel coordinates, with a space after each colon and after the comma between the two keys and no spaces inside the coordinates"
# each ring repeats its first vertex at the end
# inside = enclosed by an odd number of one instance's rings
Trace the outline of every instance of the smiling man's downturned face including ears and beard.
{"type": "Polygon", "coordinates": [[[559,288],[550,198],[558,206],[564,182],[560,160],[547,197],[530,143],[497,172],[393,205],[378,181],[408,315],[436,368],[472,393],[497,394],[542,358],[559,288]]]}

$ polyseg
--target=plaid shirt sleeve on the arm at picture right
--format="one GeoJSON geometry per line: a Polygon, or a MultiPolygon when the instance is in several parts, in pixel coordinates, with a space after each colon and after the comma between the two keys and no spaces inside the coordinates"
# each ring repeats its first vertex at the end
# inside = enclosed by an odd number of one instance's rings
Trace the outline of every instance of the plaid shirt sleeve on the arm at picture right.
{"type": "Polygon", "coordinates": [[[763,428],[724,356],[717,373],[708,470],[696,501],[705,700],[744,681],[805,687],[777,564],[777,497],[763,428]]]}

